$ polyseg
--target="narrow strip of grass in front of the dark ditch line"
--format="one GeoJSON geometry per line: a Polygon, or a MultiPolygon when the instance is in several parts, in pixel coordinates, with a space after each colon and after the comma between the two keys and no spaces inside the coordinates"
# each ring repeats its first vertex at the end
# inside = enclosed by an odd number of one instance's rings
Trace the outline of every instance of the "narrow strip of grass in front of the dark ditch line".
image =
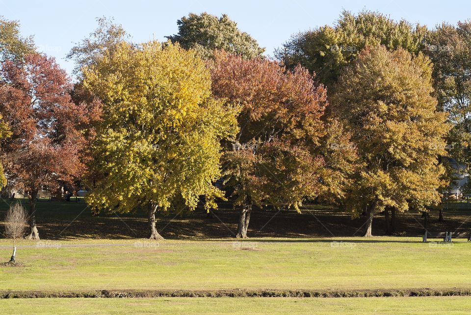
{"type": "Polygon", "coordinates": [[[471,297],[5,299],[4,314],[465,314],[471,297]]]}

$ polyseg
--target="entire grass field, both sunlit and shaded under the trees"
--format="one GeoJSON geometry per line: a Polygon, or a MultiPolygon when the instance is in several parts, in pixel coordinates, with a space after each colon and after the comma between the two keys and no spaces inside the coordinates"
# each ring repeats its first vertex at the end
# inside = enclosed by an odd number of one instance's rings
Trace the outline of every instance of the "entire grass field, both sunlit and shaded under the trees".
{"type": "MultiPolygon", "coordinates": [[[[7,207],[0,204],[0,221],[7,207]]],[[[358,236],[365,218],[351,220],[332,207],[313,206],[302,214],[255,210],[252,237],[238,240],[231,237],[237,211],[230,208],[223,205],[211,216],[201,209],[159,213],[157,230],[168,239],[149,241],[143,238],[147,225],[139,211],[97,217],[83,201],[41,201],[43,239],[20,240],[16,266],[4,264],[12,241],[0,239],[1,296],[133,290],[141,296],[264,291],[372,296],[375,290],[406,295],[471,290],[471,243],[422,243],[419,214],[397,216],[402,236],[364,238],[358,236]]],[[[430,231],[469,231],[468,212],[445,211],[445,222],[432,213],[430,231]]],[[[384,234],[383,221],[375,217],[375,235],[384,234]]],[[[470,308],[471,296],[0,298],[0,314],[465,314],[470,308]]]]}

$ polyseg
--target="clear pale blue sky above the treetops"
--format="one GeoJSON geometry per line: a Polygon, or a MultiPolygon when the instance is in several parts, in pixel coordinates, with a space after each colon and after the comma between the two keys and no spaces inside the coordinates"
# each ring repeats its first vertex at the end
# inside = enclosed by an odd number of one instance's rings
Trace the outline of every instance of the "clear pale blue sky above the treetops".
{"type": "Polygon", "coordinates": [[[24,35],[34,35],[39,50],[52,55],[69,73],[73,68],[64,56],[97,24],[96,17],[114,17],[133,41],[163,40],[177,32],[177,20],[189,12],[226,13],[243,31],[251,34],[267,55],[298,31],[332,25],[343,9],[357,13],[363,8],[380,11],[395,20],[430,27],[442,21],[456,24],[471,18],[471,2],[463,1],[333,1],[333,0],[0,0],[0,15],[19,20],[24,35]]]}

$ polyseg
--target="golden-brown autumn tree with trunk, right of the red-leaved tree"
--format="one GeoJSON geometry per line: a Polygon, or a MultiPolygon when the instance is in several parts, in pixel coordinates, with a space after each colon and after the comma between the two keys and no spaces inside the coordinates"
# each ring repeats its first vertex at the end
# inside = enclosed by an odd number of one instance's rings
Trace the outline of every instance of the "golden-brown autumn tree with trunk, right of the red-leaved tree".
{"type": "Polygon", "coordinates": [[[333,97],[334,113],[352,132],[361,167],[346,194],[352,216],[368,207],[365,236],[375,213],[410,208],[426,211],[440,202],[444,186],[446,115],[431,95],[432,66],[419,53],[363,50],[345,69],[333,97]]]}

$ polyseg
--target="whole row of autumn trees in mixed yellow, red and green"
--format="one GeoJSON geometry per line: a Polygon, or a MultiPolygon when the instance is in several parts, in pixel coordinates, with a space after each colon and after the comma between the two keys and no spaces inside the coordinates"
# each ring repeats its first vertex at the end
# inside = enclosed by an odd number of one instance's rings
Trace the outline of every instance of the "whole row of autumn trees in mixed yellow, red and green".
{"type": "MultiPolygon", "coordinates": [[[[31,201],[79,183],[92,211],[299,210],[306,200],[352,217],[426,212],[471,159],[471,24],[430,30],[375,12],[293,35],[277,60],[226,15],[189,14],[167,42],[98,28],[68,54],[72,83],[0,21],[2,185],[31,201]],[[214,183],[222,179],[223,190],[214,183]]],[[[391,231],[389,231],[391,232],[391,231]]]]}

